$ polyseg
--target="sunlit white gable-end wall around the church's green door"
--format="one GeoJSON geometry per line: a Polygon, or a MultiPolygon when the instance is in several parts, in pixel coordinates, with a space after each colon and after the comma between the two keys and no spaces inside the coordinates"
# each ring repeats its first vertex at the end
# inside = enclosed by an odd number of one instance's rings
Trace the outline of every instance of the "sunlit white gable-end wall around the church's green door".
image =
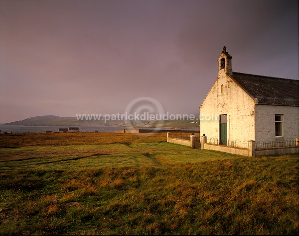
{"type": "Polygon", "coordinates": [[[227,114],[228,140],[255,140],[254,99],[224,72],[216,79],[200,106],[200,134],[219,139],[219,120],[205,117],[227,114]],[[221,93],[223,84],[223,93],[221,93]]]}

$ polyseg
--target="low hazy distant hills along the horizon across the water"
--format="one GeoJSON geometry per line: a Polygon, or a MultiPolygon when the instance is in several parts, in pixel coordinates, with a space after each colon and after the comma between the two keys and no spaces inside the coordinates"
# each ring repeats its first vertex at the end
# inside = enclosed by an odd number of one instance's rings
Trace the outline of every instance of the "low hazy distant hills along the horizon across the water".
{"type": "MultiPolygon", "coordinates": [[[[60,116],[34,116],[27,118],[25,120],[13,121],[9,123],[5,123],[4,125],[24,125],[24,126],[78,126],[78,125],[118,125],[119,123],[122,126],[132,126],[132,124],[124,124],[123,121],[113,121],[109,120],[106,123],[102,120],[77,120],[77,117],[60,117],[60,116]]],[[[133,126],[138,128],[153,128],[153,127],[163,127],[163,128],[185,128],[185,129],[199,129],[199,122],[197,121],[191,122],[187,120],[167,120],[164,122],[158,122],[159,124],[155,124],[156,122],[151,122],[151,124],[147,124],[148,122],[141,122],[138,124],[134,124],[133,126]]]]}

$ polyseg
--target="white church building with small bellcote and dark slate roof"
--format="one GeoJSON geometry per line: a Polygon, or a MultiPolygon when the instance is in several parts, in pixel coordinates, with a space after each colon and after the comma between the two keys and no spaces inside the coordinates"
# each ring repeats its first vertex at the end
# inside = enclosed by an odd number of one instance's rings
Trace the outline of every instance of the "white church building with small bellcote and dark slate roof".
{"type": "Polygon", "coordinates": [[[223,47],[218,77],[199,107],[200,134],[228,141],[273,142],[299,137],[299,80],[233,72],[223,47]]]}

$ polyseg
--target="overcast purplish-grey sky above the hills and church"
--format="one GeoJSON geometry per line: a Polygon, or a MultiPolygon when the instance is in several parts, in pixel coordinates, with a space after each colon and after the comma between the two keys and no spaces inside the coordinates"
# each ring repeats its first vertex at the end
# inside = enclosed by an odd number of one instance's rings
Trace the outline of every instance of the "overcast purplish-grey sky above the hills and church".
{"type": "Polygon", "coordinates": [[[298,0],[0,0],[0,123],[198,114],[223,46],[234,72],[298,79],[298,0]]]}

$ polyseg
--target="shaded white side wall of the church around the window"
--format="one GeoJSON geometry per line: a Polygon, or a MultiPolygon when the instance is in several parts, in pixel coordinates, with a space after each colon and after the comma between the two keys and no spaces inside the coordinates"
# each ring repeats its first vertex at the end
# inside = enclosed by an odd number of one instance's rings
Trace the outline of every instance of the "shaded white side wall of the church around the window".
{"type": "Polygon", "coordinates": [[[256,105],[256,142],[295,140],[299,137],[299,107],[256,105]],[[283,138],[275,137],[275,115],[283,115],[283,138]]]}

